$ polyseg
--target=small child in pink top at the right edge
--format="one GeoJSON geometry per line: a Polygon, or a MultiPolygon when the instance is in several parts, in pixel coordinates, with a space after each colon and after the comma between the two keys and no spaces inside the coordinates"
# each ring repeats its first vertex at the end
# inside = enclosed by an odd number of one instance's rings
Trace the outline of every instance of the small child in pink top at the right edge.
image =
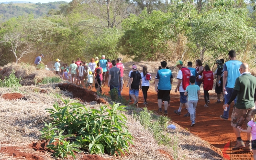
{"type": "MultiPolygon", "coordinates": [[[[256,109],[253,109],[251,111],[251,114],[252,114],[253,120],[247,123],[247,126],[248,126],[247,129],[242,129],[240,126],[237,126],[237,128],[240,132],[244,132],[252,135],[252,141],[247,140],[246,145],[247,143],[251,143],[252,151],[254,154],[254,160],[256,160],[256,109]]],[[[248,151],[251,151],[251,150],[248,149],[248,151]]]]}

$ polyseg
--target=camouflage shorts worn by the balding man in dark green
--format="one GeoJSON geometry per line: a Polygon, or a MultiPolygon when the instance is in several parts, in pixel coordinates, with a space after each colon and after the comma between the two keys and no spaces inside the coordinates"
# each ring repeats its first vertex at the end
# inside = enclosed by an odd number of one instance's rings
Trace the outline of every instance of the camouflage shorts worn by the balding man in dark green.
{"type": "Polygon", "coordinates": [[[238,109],[234,107],[232,115],[231,115],[231,126],[237,127],[242,126],[244,121],[245,125],[247,126],[247,123],[252,120],[251,116],[251,110],[255,109],[255,106],[250,109],[238,109]]]}

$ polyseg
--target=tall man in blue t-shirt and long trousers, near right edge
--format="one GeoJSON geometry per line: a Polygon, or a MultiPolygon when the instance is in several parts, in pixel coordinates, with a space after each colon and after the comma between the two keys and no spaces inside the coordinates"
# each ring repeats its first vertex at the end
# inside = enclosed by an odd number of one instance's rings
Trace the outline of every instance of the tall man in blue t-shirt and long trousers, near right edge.
{"type": "MultiPolygon", "coordinates": [[[[236,60],[236,53],[234,50],[228,52],[228,57],[230,61],[227,61],[223,65],[223,93],[227,92],[224,97],[225,104],[228,103],[232,95],[235,80],[240,76],[239,68],[242,64],[242,62],[236,60]]],[[[236,98],[234,99],[234,103],[236,103],[236,98]]],[[[226,111],[224,110],[223,115],[220,115],[222,119],[228,120],[229,108],[230,106],[228,106],[226,111]]]]}

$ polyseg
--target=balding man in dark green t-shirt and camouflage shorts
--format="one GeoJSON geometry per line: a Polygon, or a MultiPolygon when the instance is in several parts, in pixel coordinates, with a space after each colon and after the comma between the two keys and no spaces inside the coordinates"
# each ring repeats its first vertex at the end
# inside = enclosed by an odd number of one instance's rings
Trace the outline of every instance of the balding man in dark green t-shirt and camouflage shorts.
{"type": "Polygon", "coordinates": [[[247,133],[247,141],[245,145],[237,127],[241,127],[244,121],[247,126],[247,123],[252,118],[251,110],[255,109],[256,101],[256,77],[251,75],[248,64],[246,63],[240,65],[239,72],[241,76],[236,78],[232,95],[228,103],[223,105],[223,109],[226,109],[237,96],[231,116],[231,126],[233,127],[234,134],[237,138],[234,148],[244,148],[246,151],[251,151],[251,133],[247,133]]]}

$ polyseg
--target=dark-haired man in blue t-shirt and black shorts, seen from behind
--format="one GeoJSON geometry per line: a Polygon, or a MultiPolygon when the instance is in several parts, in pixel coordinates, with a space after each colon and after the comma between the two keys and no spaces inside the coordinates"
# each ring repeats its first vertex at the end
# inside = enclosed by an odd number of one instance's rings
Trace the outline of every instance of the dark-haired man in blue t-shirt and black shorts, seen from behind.
{"type": "Polygon", "coordinates": [[[157,71],[155,91],[157,93],[158,111],[162,112],[162,101],[164,101],[165,114],[167,114],[170,91],[172,89],[172,71],[167,69],[167,62],[161,62],[162,69],[157,71]]]}

